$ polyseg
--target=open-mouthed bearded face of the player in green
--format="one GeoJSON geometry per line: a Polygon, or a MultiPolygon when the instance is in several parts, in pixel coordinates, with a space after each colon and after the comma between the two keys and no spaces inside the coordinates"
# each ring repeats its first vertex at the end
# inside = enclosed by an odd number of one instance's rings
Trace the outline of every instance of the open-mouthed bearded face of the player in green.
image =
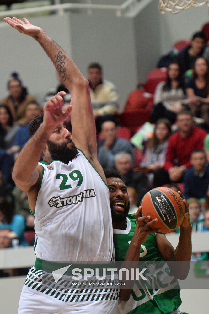
{"type": "Polygon", "coordinates": [[[107,178],[107,184],[110,191],[110,208],[112,220],[120,222],[126,219],[130,203],[125,183],[115,177],[107,178]]]}

